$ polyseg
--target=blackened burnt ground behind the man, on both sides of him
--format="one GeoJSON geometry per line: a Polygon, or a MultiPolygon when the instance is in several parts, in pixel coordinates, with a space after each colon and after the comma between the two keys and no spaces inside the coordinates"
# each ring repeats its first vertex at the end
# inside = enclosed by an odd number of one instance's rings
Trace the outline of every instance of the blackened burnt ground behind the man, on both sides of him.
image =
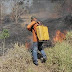
{"type": "MultiPolygon", "coordinates": [[[[44,46],[52,46],[52,39],[57,30],[60,30],[61,32],[72,30],[72,16],[68,15],[62,18],[46,19],[43,21],[43,24],[48,26],[50,35],[50,40],[44,43],[44,46]]],[[[6,25],[4,24],[2,27],[8,29],[10,33],[10,37],[6,39],[6,50],[8,48],[13,48],[14,44],[17,42],[19,45],[25,45],[25,42],[32,44],[32,39],[30,38],[32,33],[27,30],[26,25],[22,27],[21,24],[9,23],[6,25]]],[[[0,46],[2,48],[2,40],[0,40],[0,46]]]]}

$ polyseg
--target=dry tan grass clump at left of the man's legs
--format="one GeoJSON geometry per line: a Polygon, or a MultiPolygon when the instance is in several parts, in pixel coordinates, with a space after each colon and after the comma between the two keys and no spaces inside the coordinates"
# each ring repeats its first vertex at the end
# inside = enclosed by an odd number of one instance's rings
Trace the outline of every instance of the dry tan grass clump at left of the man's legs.
{"type": "Polygon", "coordinates": [[[0,58],[0,72],[28,72],[31,65],[31,54],[25,47],[15,44],[6,56],[0,58]]]}

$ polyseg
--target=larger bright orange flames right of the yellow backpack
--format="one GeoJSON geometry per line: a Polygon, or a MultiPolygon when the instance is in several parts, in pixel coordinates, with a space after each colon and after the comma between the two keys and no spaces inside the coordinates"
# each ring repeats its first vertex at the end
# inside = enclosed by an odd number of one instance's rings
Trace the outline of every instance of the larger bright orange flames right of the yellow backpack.
{"type": "Polygon", "coordinates": [[[54,42],[62,42],[66,38],[66,31],[63,33],[60,30],[56,31],[56,36],[53,38],[54,42]]]}

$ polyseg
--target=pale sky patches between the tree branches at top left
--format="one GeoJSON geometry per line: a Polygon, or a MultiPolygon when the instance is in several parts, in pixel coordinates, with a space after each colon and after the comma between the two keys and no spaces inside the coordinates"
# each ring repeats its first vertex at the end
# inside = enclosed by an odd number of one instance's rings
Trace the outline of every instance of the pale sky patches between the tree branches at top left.
{"type": "MultiPolygon", "coordinates": [[[[32,5],[33,0],[29,0],[29,3],[27,3],[27,1],[28,0],[25,0],[24,4],[25,4],[25,6],[28,5],[30,7],[32,5]]],[[[3,13],[10,14],[12,12],[12,8],[13,8],[15,2],[13,0],[9,0],[9,1],[2,1],[2,3],[3,3],[3,6],[5,7],[3,9],[3,13]]]]}

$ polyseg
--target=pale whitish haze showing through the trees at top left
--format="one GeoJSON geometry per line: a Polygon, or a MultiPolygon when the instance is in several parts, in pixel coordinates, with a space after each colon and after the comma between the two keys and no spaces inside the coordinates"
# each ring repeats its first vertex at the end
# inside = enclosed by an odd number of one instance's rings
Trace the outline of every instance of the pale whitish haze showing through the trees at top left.
{"type": "Polygon", "coordinates": [[[2,13],[3,14],[10,14],[15,6],[16,3],[18,2],[23,2],[24,6],[28,6],[30,7],[32,5],[32,2],[33,0],[5,0],[5,1],[2,1],[2,13]]]}

